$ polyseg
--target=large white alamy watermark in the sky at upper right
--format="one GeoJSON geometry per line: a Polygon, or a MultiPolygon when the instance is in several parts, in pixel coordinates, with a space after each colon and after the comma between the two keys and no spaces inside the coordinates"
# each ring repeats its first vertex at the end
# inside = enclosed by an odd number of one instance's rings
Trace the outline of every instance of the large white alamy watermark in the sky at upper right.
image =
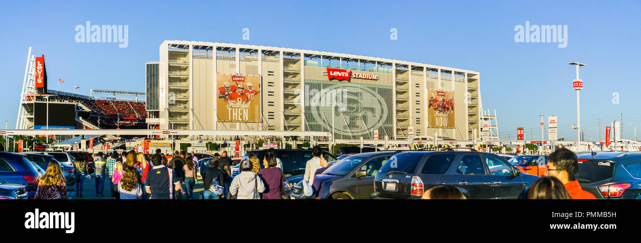
{"type": "Polygon", "coordinates": [[[520,24],[514,26],[514,42],[517,43],[559,43],[558,48],[567,47],[567,25],[520,24]]]}

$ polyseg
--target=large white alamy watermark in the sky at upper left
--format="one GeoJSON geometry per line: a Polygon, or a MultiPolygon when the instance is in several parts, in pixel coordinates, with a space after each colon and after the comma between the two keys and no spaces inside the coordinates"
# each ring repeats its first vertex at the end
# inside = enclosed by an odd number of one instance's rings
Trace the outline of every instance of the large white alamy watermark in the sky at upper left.
{"type": "Polygon", "coordinates": [[[118,47],[126,48],[129,46],[129,26],[128,25],[92,25],[87,21],[85,25],[76,26],[76,43],[119,43],[118,47]]]}

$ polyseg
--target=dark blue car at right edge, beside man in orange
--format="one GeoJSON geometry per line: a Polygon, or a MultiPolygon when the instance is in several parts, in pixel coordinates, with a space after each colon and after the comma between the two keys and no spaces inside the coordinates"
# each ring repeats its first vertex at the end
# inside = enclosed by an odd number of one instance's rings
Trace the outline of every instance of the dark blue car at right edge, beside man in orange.
{"type": "Polygon", "coordinates": [[[597,199],[641,199],[641,152],[579,153],[576,180],[597,199]]]}

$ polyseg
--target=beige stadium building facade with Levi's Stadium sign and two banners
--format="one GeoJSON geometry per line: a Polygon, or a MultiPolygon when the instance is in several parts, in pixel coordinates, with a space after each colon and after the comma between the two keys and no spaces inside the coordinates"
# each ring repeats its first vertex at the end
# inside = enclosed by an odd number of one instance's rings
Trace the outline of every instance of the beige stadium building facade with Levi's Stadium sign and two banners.
{"type": "MultiPolygon", "coordinates": [[[[148,62],[150,129],[313,130],[472,139],[480,74],[333,52],[166,40],[148,62]]],[[[478,135],[478,134],[477,134],[478,135]]]]}

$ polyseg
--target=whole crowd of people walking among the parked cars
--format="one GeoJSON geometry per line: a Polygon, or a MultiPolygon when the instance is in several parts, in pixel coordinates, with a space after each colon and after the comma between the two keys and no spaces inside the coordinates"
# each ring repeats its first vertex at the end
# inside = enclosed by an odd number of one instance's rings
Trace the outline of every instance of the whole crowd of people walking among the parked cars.
{"type": "MultiPolygon", "coordinates": [[[[310,186],[308,198],[314,198],[320,191],[316,175],[328,168],[322,158],[319,146],[312,148],[313,158],[307,161],[303,184],[310,186]]],[[[204,191],[197,195],[201,199],[287,199],[287,183],[276,158],[274,149],[267,150],[261,161],[253,153],[240,162],[240,173],[231,178],[231,159],[227,152],[198,164],[194,153],[176,151],[171,159],[156,150],[153,155],[134,151],[94,155],[96,167],[96,196],[102,197],[105,180],[110,185],[110,196],[121,199],[187,199],[194,198],[197,175],[203,180],[204,191]]],[[[78,157],[74,162],[76,192],[83,196],[83,180],[90,179],[87,162],[78,157]]],[[[547,171],[530,185],[528,199],[595,199],[595,196],[581,189],[576,175],[578,159],[566,148],[556,150],[547,159],[547,171]]],[[[46,173],[40,178],[36,199],[66,199],[67,185],[60,166],[49,163],[46,173]]],[[[423,199],[466,199],[458,187],[433,185],[426,188],[423,199]]]]}

